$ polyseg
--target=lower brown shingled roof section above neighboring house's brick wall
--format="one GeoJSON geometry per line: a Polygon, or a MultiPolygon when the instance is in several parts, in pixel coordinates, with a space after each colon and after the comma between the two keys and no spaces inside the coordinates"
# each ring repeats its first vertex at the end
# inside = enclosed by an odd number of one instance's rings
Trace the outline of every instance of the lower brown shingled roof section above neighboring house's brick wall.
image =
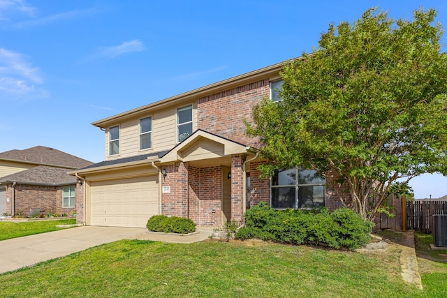
{"type": "Polygon", "coordinates": [[[62,167],[49,167],[38,165],[29,170],[10,174],[0,178],[0,184],[16,182],[17,184],[63,186],[76,184],[76,177],[67,174],[68,170],[62,167]]]}

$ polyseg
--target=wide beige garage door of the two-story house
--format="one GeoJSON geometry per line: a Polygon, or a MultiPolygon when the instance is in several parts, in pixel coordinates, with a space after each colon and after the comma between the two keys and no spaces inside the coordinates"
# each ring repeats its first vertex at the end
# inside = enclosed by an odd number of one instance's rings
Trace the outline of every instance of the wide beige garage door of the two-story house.
{"type": "Polygon", "coordinates": [[[91,225],[145,228],[159,214],[157,176],[91,182],[91,225]]]}

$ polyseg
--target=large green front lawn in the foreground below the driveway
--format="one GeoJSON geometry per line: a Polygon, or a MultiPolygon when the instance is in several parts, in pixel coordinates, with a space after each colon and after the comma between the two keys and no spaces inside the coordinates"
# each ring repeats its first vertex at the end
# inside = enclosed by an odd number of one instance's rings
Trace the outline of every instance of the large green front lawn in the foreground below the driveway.
{"type": "MultiPolygon", "coordinates": [[[[0,275],[2,297],[418,297],[398,254],[123,240],[0,275]]],[[[430,293],[428,293],[430,294],[430,293]]]]}

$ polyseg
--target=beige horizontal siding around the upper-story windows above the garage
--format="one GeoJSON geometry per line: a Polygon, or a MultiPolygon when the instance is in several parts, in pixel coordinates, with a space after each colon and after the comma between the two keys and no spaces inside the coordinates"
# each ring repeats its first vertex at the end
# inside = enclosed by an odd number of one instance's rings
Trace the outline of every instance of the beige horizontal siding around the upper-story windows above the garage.
{"type": "MultiPolygon", "coordinates": [[[[191,103],[190,103],[191,104],[191,103]]],[[[182,105],[184,106],[184,105],[182,105]]],[[[197,129],[197,105],[193,104],[193,131],[197,129]]],[[[116,126],[114,124],[112,126],[116,126]]],[[[112,127],[111,126],[111,127],[112,127]]],[[[109,156],[108,128],[105,130],[106,160],[125,158],[150,151],[164,151],[173,149],[177,144],[177,106],[163,110],[152,111],[151,114],[135,116],[135,119],[119,124],[119,154],[109,156]],[[152,116],[152,149],[140,150],[140,119],[152,116]]]]}

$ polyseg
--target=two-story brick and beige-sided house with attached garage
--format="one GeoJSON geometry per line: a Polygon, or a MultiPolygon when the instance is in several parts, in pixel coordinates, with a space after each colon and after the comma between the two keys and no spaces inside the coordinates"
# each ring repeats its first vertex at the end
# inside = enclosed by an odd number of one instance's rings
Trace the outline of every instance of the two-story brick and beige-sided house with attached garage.
{"type": "Polygon", "coordinates": [[[78,221],[143,228],[150,216],[165,214],[221,226],[261,201],[275,208],[342,206],[346,193],[336,177],[293,168],[261,178],[261,144],[245,135],[244,119],[262,98],[280,100],[283,65],[93,122],[105,131],[105,161],[71,172],[85,180],[78,221]]]}

